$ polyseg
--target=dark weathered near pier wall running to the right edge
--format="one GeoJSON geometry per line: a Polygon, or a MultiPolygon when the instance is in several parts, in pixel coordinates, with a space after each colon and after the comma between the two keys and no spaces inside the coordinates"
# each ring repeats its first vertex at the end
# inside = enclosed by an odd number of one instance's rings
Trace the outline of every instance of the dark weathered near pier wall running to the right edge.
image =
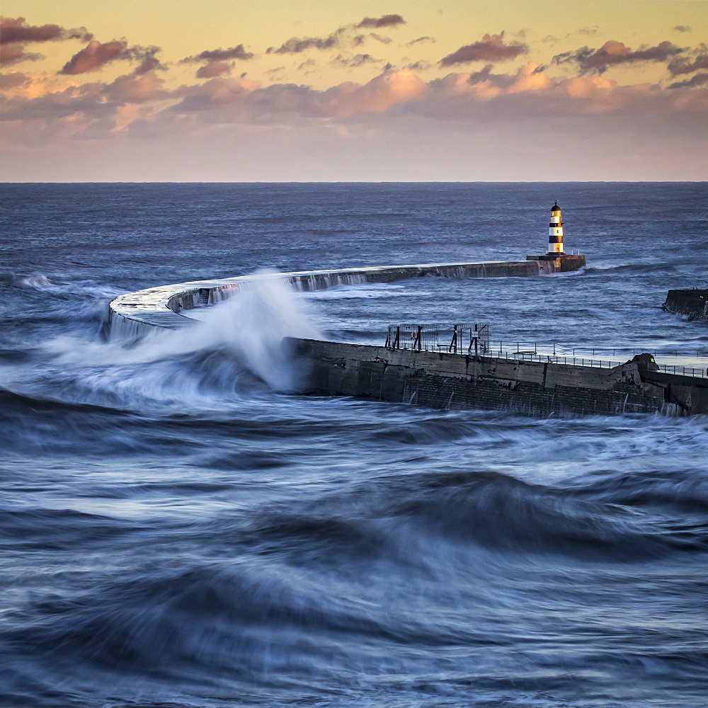
{"type": "Polygon", "coordinates": [[[552,414],[708,413],[708,380],[474,355],[294,340],[304,392],[430,408],[552,414]]]}

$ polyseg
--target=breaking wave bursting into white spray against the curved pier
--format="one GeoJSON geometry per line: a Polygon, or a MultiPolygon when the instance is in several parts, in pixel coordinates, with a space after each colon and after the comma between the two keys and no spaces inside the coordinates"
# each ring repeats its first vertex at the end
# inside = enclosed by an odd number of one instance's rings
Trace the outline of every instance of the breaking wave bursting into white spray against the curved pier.
{"type": "Polygon", "coordinates": [[[159,329],[132,346],[63,336],[46,343],[40,369],[6,367],[0,386],[18,393],[121,409],[222,409],[242,400],[249,377],[276,392],[297,388],[283,338],[319,338],[307,303],[284,278],[263,272],[185,329],[159,329]],[[241,394],[239,394],[241,390],[241,394]],[[235,396],[235,399],[234,399],[235,396]]]}

